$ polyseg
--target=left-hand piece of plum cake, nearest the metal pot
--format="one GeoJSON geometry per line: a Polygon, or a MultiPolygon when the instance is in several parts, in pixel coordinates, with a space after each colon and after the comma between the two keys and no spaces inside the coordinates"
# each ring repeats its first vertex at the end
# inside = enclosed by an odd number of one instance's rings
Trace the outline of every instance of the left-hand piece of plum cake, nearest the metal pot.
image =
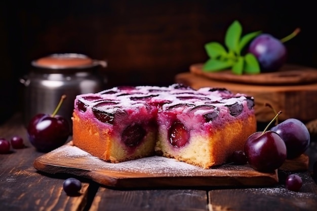
{"type": "Polygon", "coordinates": [[[73,144],[111,162],[151,156],[157,133],[157,109],[108,94],[75,100],[73,144]]]}

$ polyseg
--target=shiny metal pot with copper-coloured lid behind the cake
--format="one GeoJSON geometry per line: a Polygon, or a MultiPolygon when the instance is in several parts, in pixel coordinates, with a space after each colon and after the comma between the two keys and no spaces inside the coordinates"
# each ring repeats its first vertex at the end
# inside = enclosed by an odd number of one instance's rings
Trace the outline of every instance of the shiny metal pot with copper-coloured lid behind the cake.
{"type": "Polygon", "coordinates": [[[74,99],[79,94],[102,91],[107,83],[97,68],[105,61],[92,60],[83,54],[52,54],[31,62],[28,75],[20,78],[24,85],[23,121],[25,126],[37,113],[51,114],[66,95],[58,115],[64,116],[72,128],[74,99]]]}

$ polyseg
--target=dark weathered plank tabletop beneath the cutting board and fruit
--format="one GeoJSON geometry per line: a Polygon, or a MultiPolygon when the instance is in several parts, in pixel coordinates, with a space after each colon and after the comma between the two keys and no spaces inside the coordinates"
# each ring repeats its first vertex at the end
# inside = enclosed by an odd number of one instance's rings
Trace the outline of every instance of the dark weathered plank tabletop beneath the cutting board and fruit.
{"type": "MultiPolygon", "coordinates": [[[[288,173],[279,172],[274,187],[197,187],[117,189],[85,178],[81,194],[67,196],[63,181],[72,175],[44,174],[33,167],[35,151],[28,142],[21,115],[0,125],[0,137],[24,138],[24,149],[0,154],[0,210],[317,210],[317,186],[312,162],[317,160],[317,140],[307,150],[309,170],[296,172],[303,179],[300,192],[285,189],[288,173]]],[[[70,137],[71,139],[71,137],[70,137]]]]}

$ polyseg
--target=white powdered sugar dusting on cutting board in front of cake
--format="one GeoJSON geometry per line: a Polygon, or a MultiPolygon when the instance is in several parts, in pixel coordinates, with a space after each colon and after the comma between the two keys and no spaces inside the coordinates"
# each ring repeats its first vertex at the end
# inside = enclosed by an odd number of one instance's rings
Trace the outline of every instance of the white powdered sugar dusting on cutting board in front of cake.
{"type": "MultiPolygon", "coordinates": [[[[90,153],[70,144],[64,145],[50,152],[52,160],[58,163],[65,163],[70,166],[76,163],[81,167],[91,171],[108,170],[114,172],[155,174],[156,176],[178,177],[178,176],[239,176],[241,173],[250,171],[249,166],[222,165],[210,169],[188,164],[173,158],[162,156],[144,157],[120,163],[110,163],[92,156],[90,153]],[[77,159],[81,158],[81,159],[77,159]],[[240,172],[240,173],[239,173],[240,172]]],[[[246,173],[246,176],[248,174],[246,173]]],[[[268,175],[269,176],[269,175],[268,175]]]]}

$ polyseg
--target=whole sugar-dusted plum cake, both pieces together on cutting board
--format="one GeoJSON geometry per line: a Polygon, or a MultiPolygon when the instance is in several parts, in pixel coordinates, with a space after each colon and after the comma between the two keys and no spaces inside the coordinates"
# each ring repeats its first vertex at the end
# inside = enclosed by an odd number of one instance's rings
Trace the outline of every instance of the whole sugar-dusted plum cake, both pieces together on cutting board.
{"type": "Polygon", "coordinates": [[[73,144],[110,162],[159,155],[210,168],[256,132],[253,107],[224,88],[114,87],[76,96],[73,144]]]}

